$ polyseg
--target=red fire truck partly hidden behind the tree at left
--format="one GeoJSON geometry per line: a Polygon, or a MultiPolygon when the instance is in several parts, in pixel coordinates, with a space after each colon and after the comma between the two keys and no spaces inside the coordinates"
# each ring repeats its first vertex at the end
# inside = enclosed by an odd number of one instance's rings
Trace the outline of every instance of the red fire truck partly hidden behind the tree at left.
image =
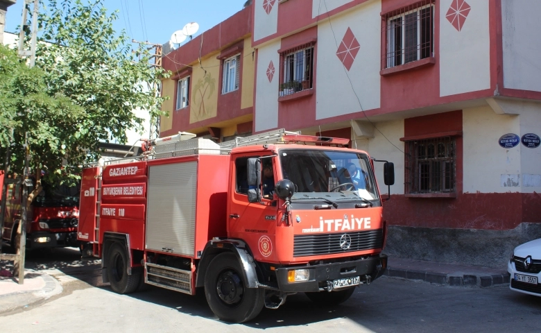
{"type": "MultiPolygon", "coordinates": [[[[0,189],[3,176],[0,175],[0,189]]],[[[7,186],[2,239],[15,248],[15,236],[22,212],[22,185],[10,183],[7,186]]],[[[42,180],[42,187],[28,210],[26,249],[78,247],[80,186],[53,185],[42,180]]],[[[28,193],[30,191],[32,187],[29,187],[28,193]]]]}

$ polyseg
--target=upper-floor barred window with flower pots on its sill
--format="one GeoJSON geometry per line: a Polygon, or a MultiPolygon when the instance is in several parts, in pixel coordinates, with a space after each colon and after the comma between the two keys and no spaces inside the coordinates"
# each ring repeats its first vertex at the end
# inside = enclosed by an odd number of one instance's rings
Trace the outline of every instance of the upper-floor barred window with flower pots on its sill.
{"type": "Polygon", "coordinates": [[[304,45],[282,53],[280,96],[311,89],[314,74],[314,46],[304,45]]]}

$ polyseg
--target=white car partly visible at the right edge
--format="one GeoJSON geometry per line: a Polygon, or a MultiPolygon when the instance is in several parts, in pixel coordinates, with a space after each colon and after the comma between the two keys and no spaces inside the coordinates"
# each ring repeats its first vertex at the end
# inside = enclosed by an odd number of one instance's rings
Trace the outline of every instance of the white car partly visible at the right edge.
{"type": "Polygon", "coordinates": [[[507,271],[511,275],[511,290],[541,296],[541,239],[517,246],[507,263],[507,271]]]}

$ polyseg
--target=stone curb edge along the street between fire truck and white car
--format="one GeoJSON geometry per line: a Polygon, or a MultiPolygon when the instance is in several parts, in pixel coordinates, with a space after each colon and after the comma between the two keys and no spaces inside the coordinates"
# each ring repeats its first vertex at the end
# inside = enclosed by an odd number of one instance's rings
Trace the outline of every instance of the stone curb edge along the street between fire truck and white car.
{"type": "Polygon", "coordinates": [[[406,280],[424,281],[433,284],[442,284],[451,287],[479,287],[490,288],[509,284],[509,273],[479,275],[474,273],[436,273],[419,271],[415,269],[400,269],[388,267],[384,275],[390,278],[403,278],[406,280]]]}

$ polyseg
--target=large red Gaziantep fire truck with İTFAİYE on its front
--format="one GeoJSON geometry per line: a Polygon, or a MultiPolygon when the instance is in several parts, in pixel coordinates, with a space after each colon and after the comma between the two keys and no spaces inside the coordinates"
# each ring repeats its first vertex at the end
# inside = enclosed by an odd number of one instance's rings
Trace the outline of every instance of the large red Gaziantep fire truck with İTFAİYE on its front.
{"type": "MultiPolygon", "coordinates": [[[[83,171],[78,239],[113,291],[204,287],[218,318],[241,323],[299,292],[338,304],[383,273],[375,160],[349,139],[183,137],[83,171]]],[[[384,170],[392,185],[393,164],[384,170]]]]}

